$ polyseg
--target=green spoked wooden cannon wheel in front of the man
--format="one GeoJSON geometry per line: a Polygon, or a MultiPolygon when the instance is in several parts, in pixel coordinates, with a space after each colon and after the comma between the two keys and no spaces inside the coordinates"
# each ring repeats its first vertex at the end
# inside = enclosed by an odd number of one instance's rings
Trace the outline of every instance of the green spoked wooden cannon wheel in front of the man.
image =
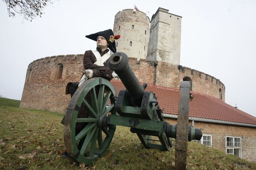
{"type": "Polygon", "coordinates": [[[102,117],[116,115],[112,84],[103,78],[84,82],[67,108],[64,142],[69,156],[78,163],[91,164],[107,151],[116,125],[102,127],[102,117]],[[110,100],[110,102],[109,102],[110,100]]]}

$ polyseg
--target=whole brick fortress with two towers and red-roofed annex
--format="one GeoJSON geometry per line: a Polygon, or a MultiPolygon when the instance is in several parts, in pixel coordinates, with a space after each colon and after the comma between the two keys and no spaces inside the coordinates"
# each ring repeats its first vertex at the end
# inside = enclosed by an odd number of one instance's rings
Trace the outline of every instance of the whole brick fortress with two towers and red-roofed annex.
{"type": "MultiPolygon", "coordinates": [[[[141,83],[148,82],[146,91],[153,91],[158,97],[160,107],[164,108],[165,120],[170,124],[177,123],[180,82],[190,81],[194,100],[189,106],[189,121],[195,128],[203,129],[203,138],[197,142],[256,162],[256,118],[225,103],[225,86],[219,79],[179,65],[181,16],[158,8],[151,18],[150,27],[147,27],[147,23],[145,13],[123,10],[122,14],[115,16],[113,31],[115,34],[126,34],[125,40],[117,40],[117,51],[118,48],[126,49],[135,75],[141,83]],[[139,29],[136,22],[130,23],[133,21],[131,19],[124,24],[125,18],[130,18],[126,15],[133,18],[138,15],[137,22],[144,15],[145,21],[139,24],[142,28],[139,29]],[[122,22],[117,22],[120,19],[122,22]],[[168,28],[175,30],[170,32],[173,40],[170,46],[163,46],[161,41],[165,37],[161,34],[162,31],[170,31],[168,28]],[[129,50],[142,43],[137,39],[129,39],[129,30],[132,34],[134,31],[138,35],[143,34],[143,40],[149,32],[148,49],[147,45],[144,48],[142,44],[142,48],[129,50]],[[146,58],[146,52],[142,50],[147,51],[146,58]],[[140,55],[142,57],[136,57],[140,55]]],[[[45,57],[30,63],[20,107],[65,113],[70,101],[70,96],[65,95],[66,84],[79,81],[82,63],[83,54],[45,57]]],[[[112,80],[111,83],[116,92],[124,89],[120,80],[112,80]]]]}

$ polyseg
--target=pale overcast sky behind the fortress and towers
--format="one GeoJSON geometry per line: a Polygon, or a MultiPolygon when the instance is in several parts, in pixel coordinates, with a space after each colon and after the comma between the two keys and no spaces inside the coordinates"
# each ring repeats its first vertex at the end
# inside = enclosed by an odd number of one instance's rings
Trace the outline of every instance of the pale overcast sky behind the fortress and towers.
{"type": "Polygon", "coordinates": [[[41,18],[23,24],[21,16],[8,16],[1,1],[0,95],[20,100],[29,63],[95,49],[85,35],[113,29],[115,14],[134,4],[149,19],[158,7],[182,16],[180,64],[220,79],[225,102],[256,117],[254,0],[60,0],[47,6],[41,18]]]}

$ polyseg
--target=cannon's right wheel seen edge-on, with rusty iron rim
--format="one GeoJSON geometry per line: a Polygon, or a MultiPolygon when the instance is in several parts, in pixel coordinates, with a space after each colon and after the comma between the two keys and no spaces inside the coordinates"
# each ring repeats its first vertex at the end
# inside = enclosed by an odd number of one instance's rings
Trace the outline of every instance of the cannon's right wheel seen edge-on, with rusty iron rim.
{"type": "Polygon", "coordinates": [[[186,169],[190,83],[182,81],[178,107],[175,143],[175,170],[186,169]]]}

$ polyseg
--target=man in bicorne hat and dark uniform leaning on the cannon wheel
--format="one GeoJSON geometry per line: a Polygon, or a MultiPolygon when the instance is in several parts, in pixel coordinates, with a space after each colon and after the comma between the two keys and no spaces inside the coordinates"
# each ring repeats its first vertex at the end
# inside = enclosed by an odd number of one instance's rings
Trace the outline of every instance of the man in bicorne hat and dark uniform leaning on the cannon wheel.
{"type": "MultiPolygon", "coordinates": [[[[114,36],[114,33],[111,29],[100,31],[95,34],[86,35],[85,37],[96,41],[96,50],[88,50],[84,53],[83,58],[83,75],[80,82],[76,83],[74,87],[74,83],[68,83],[66,87],[66,94],[70,94],[71,97],[74,95],[76,88],[78,88],[84,81],[90,79],[92,77],[102,77],[110,81],[112,78],[116,78],[117,74],[108,68],[108,58],[110,55],[108,54],[109,50],[113,53],[116,52],[115,39],[119,39],[120,35],[114,36]],[[71,90],[72,89],[72,90],[71,90]]],[[[96,93],[98,93],[99,89],[96,88],[96,93]]],[[[91,98],[89,95],[85,97],[86,101],[91,105],[91,98]]],[[[83,105],[81,105],[78,118],[87,118],[88,112],[83,105]]],[[[64,124],[65,116],[62,119],[61,123],[64,124]]],[[[85,123],[77,123],[76,124],[76,134],[78,134],[84,127],[85,123]]],[[[85,138],[85,137],[84,137],[85,138]]],[[[78,149],[81,148],[84,139],[81,139],[78,143],[78,149]]],[[[67,153],[64,153],[63,157],[67,157],[67,153]]]]}

